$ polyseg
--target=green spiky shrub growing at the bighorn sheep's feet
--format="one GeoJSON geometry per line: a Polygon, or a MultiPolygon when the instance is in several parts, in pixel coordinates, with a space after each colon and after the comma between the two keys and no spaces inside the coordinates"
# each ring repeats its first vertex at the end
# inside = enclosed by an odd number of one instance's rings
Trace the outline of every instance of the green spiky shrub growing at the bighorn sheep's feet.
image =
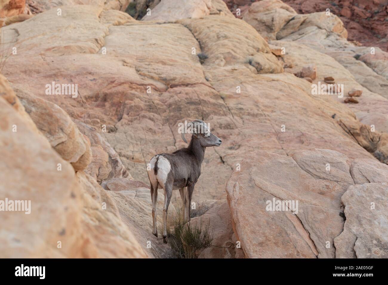
{"type": "Polygon", "coordinates": [[[171,228],[167,227],[168,244],[173,258],[197,258],[199,252],[211,247],[214,232],[210,231],[210,221],[207,224],[200,220],[197,223],[185,223],[182,204],[177,202],[176,213],[172,217],[171,228]]]}

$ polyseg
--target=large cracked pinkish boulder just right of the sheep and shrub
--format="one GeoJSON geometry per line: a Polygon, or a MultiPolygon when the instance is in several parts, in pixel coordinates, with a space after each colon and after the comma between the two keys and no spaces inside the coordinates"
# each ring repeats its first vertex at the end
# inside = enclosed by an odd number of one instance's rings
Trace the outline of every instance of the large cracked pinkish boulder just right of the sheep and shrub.
{"type": "MultiPolygon", "coordinates": [[[[340,157],[336,152],[333,155],[340,157]]],[[[346,163],[345,157],[340,161],[346,163]]],[[[308,165],[309,160],[304,162],[308,165]]],[[[310,167],[325,169],[322,162],[310,167]]],[[[285,155],[263,150],[249,154],[227,184],[234,231],[245,256],[335,257],[333,239],[340,235],[344,222],[340,199],[346,187],[341,184],[351,176],[336,168],[331,171],[340,179],[315,178],[285,155]],[[298,201],[298,211],[268,211],[267,201],[273,199],[298,201]]]]}

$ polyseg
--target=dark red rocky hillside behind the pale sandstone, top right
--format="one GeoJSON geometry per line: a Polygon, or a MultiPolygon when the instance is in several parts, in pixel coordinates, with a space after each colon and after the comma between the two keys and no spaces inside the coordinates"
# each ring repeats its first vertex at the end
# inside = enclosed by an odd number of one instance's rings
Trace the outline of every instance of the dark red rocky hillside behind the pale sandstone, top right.
{"type": "MultiPolygon", "coordinates": [[[[224,0],[230,11],[241,15],[251,0],[224,0]]],[[[388,51],[388,0],[284,0],[299,14],[322,12],[327,8],[344,23],[349,41],[359,41],[365,46],[375,46],[388,51]]],[[[236,16],[241,18],[241,16],[236,16]]]]}

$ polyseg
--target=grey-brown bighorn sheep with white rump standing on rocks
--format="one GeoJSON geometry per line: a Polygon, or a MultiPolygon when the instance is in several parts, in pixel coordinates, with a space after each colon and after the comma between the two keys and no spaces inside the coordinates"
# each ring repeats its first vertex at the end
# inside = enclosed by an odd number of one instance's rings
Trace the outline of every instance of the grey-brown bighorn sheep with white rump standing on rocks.
{"type": "MultiPolygon", "coordinates": [[[[165,204],[163,206],[163,242],[167,243],[167,210],[173,190],[180,192],[182,198],[184,221],[190,221],[191,196],[194,186],[201,175],[201,164],[205,156],[206,147],[219,147],[221,140],[210,133],[206,124],[201,120],[189,123],[191,125],[191,142],[189,147],[178,149],[172,154],[157,154],[149,162],[148,178],[151,184],[152,199],[152,233],[158,237],[156,230],[156,202],[158,188],[163,188],[165,204]]],[[[187,125],[189,125],[187,124],[187,125]]],[[[184,132],[182,139],[187,143],[184,132]]]]}

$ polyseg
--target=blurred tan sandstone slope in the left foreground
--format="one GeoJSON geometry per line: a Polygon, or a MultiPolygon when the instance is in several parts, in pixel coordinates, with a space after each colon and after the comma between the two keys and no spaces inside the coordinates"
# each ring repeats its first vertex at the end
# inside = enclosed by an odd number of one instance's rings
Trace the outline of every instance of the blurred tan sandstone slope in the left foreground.
{"type": "Polygon", "coordinates": [[[39,98],[21,96],[19,101],[7,81],[0,79],[0,196],[25,200],[26,205],[29,201],[24,211],[1,212],[1,257],[145,257],[106,191],[66,161],[79,145],[66,144],[66,151],[53,145],[53,138],[64,136],[50,131],[54,130],[50,123],[62,116],[58,130],[66,133],[72,127],[61,126],[74,126],[66,113],[39,98]],[[45,124],[45,114],[33,114],[53,108],[57,108],[51,113],[53,120],[45,124]]]}

